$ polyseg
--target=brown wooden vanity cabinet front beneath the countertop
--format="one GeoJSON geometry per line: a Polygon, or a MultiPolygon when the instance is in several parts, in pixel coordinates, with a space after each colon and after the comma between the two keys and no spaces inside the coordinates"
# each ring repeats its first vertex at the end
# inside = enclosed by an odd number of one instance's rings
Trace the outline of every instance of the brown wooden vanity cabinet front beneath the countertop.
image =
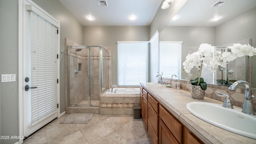
{"type": "Polygon", "coordinates": [[[204,144],[142,86],[140,107],[151,144],[204,144]]]}

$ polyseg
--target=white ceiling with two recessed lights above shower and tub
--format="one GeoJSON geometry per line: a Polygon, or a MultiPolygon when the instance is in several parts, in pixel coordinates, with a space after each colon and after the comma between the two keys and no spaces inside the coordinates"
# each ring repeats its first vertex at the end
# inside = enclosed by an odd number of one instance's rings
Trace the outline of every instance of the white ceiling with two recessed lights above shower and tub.
{"type": "Polygon", "coordinates": [[[149,26],[162,0],[59,0],[83,26],[149,26]],[[130,20],[130,16],[136,16],[130,20]],[[87,16],[93,16],[92,21],[87,16]]]}

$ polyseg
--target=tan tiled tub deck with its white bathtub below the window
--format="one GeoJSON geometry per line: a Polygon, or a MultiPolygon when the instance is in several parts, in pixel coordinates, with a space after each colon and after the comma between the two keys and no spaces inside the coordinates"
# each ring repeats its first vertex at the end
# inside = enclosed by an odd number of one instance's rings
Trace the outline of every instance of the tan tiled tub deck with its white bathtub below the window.
{"type": "Polygon", "coordinates": [[[140,105],[140,88],[113,88],[100,96],[100,114],[132,115],[134,105],[140,105]]]}

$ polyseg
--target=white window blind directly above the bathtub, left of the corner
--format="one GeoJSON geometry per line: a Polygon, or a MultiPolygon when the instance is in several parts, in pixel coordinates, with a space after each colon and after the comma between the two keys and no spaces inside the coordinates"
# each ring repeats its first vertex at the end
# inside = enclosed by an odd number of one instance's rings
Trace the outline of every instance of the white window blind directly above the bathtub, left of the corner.
{"type": "Polygon", "coordinates": [[[148,81],[148,42],[118,42],[118,86],[148,81]]]}

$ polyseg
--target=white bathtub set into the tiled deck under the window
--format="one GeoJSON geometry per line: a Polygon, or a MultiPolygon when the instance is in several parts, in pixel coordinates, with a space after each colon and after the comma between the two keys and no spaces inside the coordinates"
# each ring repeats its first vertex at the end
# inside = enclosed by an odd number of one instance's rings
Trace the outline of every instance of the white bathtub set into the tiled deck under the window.
{"type": "Polygon", "coordinates": [[[105,93],[106,95],[119,95],[119,94],[140,94],[140,88],[111,88],[105,93]]]}

